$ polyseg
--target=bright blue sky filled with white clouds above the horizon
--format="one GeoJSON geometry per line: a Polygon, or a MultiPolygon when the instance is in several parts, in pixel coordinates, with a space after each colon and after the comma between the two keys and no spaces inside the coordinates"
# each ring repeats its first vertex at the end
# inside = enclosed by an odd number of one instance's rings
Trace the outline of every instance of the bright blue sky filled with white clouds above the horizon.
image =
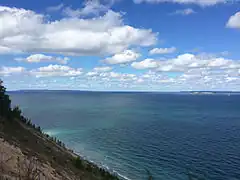
{"type": "Polygon", "coordinates": [[[8,90],[240,91],[238,0],[1,0],[8,90]]]}

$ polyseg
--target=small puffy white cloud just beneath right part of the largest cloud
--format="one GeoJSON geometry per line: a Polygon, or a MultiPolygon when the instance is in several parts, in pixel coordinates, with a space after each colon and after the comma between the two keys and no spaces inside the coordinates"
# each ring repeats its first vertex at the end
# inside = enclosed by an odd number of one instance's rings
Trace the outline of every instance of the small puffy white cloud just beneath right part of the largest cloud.
{"type": "Polygon", "coordinates": [[[133,50],[125,50],[122,53],[115,54],[112,57],[103,60],[107,64],[125,64],[135,61],[141,55],[133,50]]]}

